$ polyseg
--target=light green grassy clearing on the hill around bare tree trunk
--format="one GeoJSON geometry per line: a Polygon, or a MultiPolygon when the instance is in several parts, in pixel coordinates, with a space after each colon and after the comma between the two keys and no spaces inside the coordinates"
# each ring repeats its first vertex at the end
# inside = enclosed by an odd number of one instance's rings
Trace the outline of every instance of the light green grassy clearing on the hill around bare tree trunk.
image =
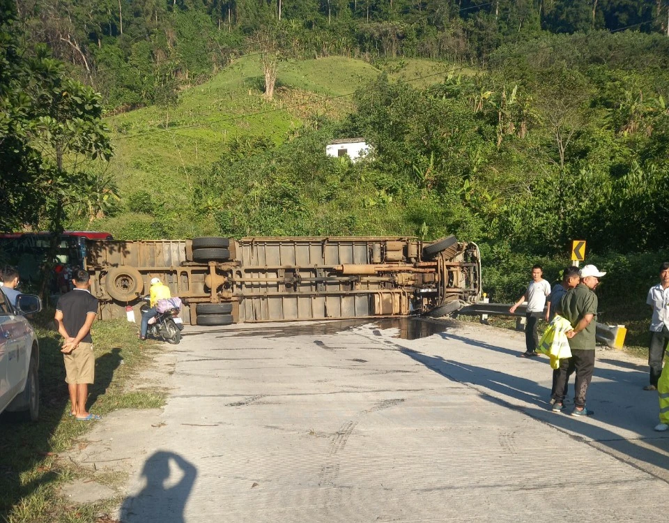
{"type": "MultiPolygon", "coordinates": [[[[440,82],[440,73],[449,66],[408,59],[388,61],[384,69],[394,81],[424,86],[440,82]]],[[[109,172],[124,195],[146,190],[179,199],[188,172],[220,158],[236,137],[267,137],[279,144],[309,117],[339,119],[353,107],[351,97],[341,95],[353,93],[381,72],[342,56],[284,61],[275,99],[267,101],[259,59],[238,59],[209,82],[185,89],[176,107],[151,106],[107,118],[115,149],[109,172]],[[314,103],[333,96],[340,98],[314,103]]]]}

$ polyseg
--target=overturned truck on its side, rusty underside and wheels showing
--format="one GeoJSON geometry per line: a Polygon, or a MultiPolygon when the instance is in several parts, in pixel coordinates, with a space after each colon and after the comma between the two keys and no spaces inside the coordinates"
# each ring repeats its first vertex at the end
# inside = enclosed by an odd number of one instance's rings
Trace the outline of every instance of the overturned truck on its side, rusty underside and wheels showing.
{"type": "Polygon", "coordinates": [[[192,325],[442,316],[475,303],[475,243],[417,238],[231,238],[89,241],[86,270],[100,318],[139,314],[160,278],[192,325]]]}

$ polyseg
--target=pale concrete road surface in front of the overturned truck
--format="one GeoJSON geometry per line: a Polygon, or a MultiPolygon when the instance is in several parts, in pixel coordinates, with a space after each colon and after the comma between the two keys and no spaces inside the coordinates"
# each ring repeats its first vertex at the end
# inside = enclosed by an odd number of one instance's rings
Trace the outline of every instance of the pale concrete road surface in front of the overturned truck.
{"type": "Polygon", "coordinates": [[[173,390],[123,522],[643,522],[666,512],[669,435],[652,430],[643,361],[598,350],[595,414],[584,420],[547,410],[552,371],[546,358],[516,358],[522,333],[420,322],[403,331],[426,335],[412,340],[344,327],[189,328],[165,347],[173,390]]]}

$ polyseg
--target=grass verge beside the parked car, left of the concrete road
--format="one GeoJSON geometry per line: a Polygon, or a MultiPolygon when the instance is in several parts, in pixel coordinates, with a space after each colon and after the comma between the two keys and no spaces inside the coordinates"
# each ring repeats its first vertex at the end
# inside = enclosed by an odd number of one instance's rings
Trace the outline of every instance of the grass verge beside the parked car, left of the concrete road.
{"type": "MultiPolygon", "coordinates": [[[[48,317],[48,314],[45,314],[48,317]]],[[[51,316],[52,317],[52,316],[51,316]]],[[[39,323],[39,321],[37,322],[39,323]]],[[[0,520],[6,523],[89,523],[105,513],[114,500],[72,506],[59,487],[89,471],[66,464],[58,453],[70,448],[93,424],[70,418],[65,367],[58,333],[38,328],[40,342],[40,420],[24,422],[13,413],[0,416],[0,520]]],[[[161,391],[133,391],[125,385],[144,367],[151,349],[140,347],[136,328],[127,321],[99,321],[92,330],[95,384],[87,405],[95,414],[116,409],[162,407],[161,391]]],[[[109,483],[110,478],[95,478],[109,483]]],[[[112,478],[113,479],[113,478],[112,478]]],[[[118,483],[118,482],[116,482],[118,483]]]]}

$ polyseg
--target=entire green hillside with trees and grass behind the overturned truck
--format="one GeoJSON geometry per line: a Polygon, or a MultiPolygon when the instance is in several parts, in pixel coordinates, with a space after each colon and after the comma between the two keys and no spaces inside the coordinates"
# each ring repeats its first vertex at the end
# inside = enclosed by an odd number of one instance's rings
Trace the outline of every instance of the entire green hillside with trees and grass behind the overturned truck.
{"type": "Polygon", "coordinates": [[[666,2],[123,4],[0,0],[3,230],[456,234],[500,302],[581,239],[607,321],[645,314],[669,248],[666,2]],[[271,101],[261,53],[283,59],[271,101]],[[344,136],[374,154],[325,156],[344,136]]]}

